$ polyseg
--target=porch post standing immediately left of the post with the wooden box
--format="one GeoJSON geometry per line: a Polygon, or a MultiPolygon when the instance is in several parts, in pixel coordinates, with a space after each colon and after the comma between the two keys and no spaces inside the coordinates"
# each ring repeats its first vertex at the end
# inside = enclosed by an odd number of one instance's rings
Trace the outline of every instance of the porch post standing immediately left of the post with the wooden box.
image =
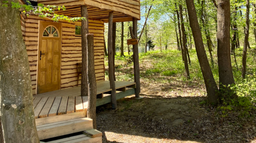
{"type": "Polygon", "coordinates": [[[112,35],[112,28],[113,28],[113,11],[109,13],[109,35],[108,35],[108,58],[109,58],[109,80],[110,80],[110,88],[111,91],[111,102],[112,108],[117,108],[116,103],[116,86],[115,86],[115,79],[114,79],[114,64],[113,64],[113,35],[112,35]]]}

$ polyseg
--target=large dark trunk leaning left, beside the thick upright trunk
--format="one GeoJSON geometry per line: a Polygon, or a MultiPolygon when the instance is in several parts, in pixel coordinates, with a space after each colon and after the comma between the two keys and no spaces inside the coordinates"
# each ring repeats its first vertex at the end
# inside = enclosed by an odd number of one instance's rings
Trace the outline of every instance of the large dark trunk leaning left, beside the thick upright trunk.
{"type": "Polygon", "coordinates": [[[210,65],[207,59],[207,55],[204,50],[203,38],[200,31],[199,23],[198,23],[197,12],[194,5],[194,1],[186,0],[186,6],[188,11],[188,17],[189,17],[189,25],[191,27],[194,41],[195,41],[198,61],[204,77],[204,83],[207,91],[208,102],[210,104],[216,105],[218,104],[218,95],[217,95],[218,87],[215,82],[214,75],[212,75],[210,65]]]}

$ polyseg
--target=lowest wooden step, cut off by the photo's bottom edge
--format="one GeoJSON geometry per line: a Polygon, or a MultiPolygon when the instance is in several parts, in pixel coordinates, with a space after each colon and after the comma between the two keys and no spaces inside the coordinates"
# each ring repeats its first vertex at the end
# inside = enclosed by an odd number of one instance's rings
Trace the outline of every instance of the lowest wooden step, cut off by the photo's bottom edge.
{"type": "Polygon", "coordinates": [[[91,138],[85,134],[47,141],[46,143],[102,143],[102,137],[91,138]]]}

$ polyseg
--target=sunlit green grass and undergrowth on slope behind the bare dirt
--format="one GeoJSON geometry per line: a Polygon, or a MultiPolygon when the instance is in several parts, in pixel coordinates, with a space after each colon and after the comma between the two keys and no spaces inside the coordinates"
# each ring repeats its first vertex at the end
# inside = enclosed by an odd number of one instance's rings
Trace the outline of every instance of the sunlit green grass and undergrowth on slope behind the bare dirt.
{"type": "MultiPolygon", "coordinates": [[[[231,55],[231,62],[233,68],[233,75],[236,83],[243,82],[241,77],[242,69],[242,47],[236,49],[236,56],[238,62],[238,69],[234,64],[233,55],[231,55]]],[[[133,81],[133,62],[130,52],[124,52],[125,57],[120,57],[119,52],[115,56],[115,68],[117,80],[133,81]]],[[[195,49],[189,49],[191,64],[189,65],[190,79],[185,78],[184,63],[182,61],[181,51],[176,49],[162,50],[160,51],[148,51],[147,53],[139,53],[140,63],[140,77],[142,82],[146,83],[172,83],[180,82],[188,85],[195,85],[198,87],[204,87],[204,79],[201,72],[201,67],[197,58],[195,49]]],[[[209,52],[206,50],[206,54],[209,60],[209,52]]],[[[217,59],[217,49],[214,48],[212,52],[214,57],[214,67],[211,67],[212,73],[219,83],[219,69],[217,59]]],[[[247,74],[253,75],[256,73],[256,50],[254,47],[248,50],[247,56],[247,74]]],[[[108,60],[105,60],[105,66],[108,66],[108,60]]],[[[108,74],[106,74],[108,75],[108,74]]]]}

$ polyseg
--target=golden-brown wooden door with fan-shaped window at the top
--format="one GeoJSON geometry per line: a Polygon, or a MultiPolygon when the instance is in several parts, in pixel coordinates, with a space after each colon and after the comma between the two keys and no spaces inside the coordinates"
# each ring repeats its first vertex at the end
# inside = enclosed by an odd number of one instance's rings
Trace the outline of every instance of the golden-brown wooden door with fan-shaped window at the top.
{"type": "Polygon", "coordinates": [[[60,89],[61,23],[39,22],[37,94],[60,89]]]}

